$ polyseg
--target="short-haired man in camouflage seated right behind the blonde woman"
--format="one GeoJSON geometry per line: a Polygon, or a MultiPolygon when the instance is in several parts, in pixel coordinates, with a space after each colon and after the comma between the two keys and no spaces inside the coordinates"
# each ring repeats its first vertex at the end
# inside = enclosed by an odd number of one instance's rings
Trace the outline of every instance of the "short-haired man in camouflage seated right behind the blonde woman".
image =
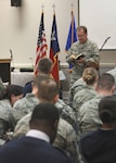
{"type": "Polygon", "coordinates": [[[102,74],[96,84],[96,96],[83,103],[79,110],[79,130],[83,135],[89,130],[95,130],[102,122],[99,117],[99,102],[105,96],[113,96],[115,91],[115,79],[108,74],[102,74]]]}

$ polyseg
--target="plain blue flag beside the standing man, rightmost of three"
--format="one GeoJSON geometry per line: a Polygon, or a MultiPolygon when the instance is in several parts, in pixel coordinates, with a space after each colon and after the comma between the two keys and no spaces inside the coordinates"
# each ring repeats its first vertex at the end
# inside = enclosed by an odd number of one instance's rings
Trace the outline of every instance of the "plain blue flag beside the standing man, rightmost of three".
{"type": "MultiPolygon", "coordinates": [[[[72,43],[75,41],[77,41],[77,32],[76,32],[76,23],[75,23],[74,12],[72,11],[72,22],[70,22],[70,26],[69,26],[69,32],[68,32],[68,36],[67,36],[65,50],[68,51],[72,43]]],[[[73,65],[69,64],[69,68],[72,68],[72,67],[73,67],[73,65]]]]}

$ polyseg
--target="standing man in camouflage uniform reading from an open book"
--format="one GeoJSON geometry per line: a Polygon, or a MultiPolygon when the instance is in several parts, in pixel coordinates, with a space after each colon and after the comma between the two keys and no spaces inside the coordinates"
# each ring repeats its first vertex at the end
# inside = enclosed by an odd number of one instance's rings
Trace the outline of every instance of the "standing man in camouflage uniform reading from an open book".
{"type": "Polygon", "coordinates": [[[74,42],[66,55],[66,62],[73,64],[70,74],[70,86],[81,77],[88,61],[100,62],[99,48],[96,43],[88,39],[86,26],[77,27],[78,41],[74,42]]]}

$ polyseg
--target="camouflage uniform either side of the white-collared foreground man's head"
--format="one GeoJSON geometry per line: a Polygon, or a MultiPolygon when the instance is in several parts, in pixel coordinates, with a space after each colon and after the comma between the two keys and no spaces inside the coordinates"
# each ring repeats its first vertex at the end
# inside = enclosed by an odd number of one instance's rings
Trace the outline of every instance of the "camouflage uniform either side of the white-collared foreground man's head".
{"type": "MultiPolygon", "coordinates": [[[[24,136],[29,130],[29,120],[31,112],[20,120],[14,129],[14,137],[18,138],[24,136]]],[[[67,150],[75,158],[76,163],[80,163],[81,159],[77,147],[77,137],[74,128],[65,120],[60,118],[57,136],[54,141],[54,146],[62,150],[67,150]]]]}

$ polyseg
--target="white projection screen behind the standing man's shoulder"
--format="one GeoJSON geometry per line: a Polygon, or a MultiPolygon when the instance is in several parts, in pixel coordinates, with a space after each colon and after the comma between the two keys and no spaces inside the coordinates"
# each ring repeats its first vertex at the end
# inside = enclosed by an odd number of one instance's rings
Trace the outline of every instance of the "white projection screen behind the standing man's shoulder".
{"type": "Polygon", "coordinates": [[[116,49],[116,0],[80,0],[80,24],[88,27],[89,38],[99,48],[116,49]]]}

